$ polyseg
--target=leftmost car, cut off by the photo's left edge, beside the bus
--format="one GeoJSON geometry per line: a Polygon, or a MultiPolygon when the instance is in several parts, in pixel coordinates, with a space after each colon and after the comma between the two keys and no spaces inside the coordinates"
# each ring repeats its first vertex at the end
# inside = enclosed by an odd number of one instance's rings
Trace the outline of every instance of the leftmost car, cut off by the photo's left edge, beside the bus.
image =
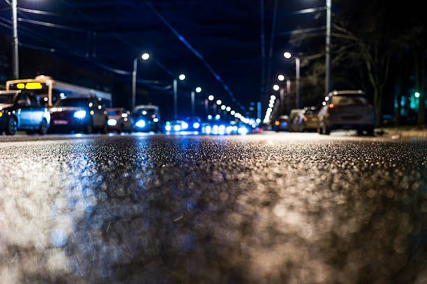
{"type": "Polygon", "coordinates": [[[0,134],[15,135],[17,130],[46,134],[50,113],[36,97],[20,90],[0,91],[0,134]]]}

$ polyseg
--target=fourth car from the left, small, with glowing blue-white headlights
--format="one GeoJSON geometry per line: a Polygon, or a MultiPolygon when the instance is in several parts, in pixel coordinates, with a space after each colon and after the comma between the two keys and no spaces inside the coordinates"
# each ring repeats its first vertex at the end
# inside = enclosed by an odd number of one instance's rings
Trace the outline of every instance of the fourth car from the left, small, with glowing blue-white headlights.
{"type": "Polygon", "coordinates": [[[152,104],[139,105],[132,111],[136,132],[160,132],[160,114],[157,106],[152,104]]]}

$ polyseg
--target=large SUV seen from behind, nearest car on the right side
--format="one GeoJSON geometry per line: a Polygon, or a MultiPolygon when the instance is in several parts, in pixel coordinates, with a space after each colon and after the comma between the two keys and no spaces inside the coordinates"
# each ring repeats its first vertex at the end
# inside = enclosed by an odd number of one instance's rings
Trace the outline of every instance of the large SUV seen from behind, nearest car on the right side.
{"type": "Polygon", "coordinates": [[[374,110],[361,90],[334,90],[325,97],[318,114],[317,132],[330,134],[334,129],[356,129],[359,135],[374,134],[374,110]]]}

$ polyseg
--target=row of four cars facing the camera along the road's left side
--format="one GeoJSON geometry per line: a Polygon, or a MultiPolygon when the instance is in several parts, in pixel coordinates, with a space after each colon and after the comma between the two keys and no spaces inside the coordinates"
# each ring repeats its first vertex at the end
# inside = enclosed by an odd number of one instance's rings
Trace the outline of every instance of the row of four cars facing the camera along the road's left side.
{"type": "Polygon", "coordinates": [[[0,91],[0,134],[17,130],[46,134],[69,132],[157,132],[158,107],[137,106],[133,112],[108,109],[98,97],[66,97],[47,108],[21,90],[0,91]]]}

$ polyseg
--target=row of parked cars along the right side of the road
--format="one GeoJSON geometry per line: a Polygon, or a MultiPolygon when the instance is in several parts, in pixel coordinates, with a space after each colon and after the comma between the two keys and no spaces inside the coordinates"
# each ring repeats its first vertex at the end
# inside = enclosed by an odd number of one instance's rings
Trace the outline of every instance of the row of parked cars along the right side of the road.
{"type": "Polygon", "coordinates": [[[320,107],[292,109],[289,116],[279,116],[274,130],[329,135],[336,129],[354,129],[359,135],[373,135],[374,118],[373,106],[362,90],[334,90],[324,97],[320,107]]]}

